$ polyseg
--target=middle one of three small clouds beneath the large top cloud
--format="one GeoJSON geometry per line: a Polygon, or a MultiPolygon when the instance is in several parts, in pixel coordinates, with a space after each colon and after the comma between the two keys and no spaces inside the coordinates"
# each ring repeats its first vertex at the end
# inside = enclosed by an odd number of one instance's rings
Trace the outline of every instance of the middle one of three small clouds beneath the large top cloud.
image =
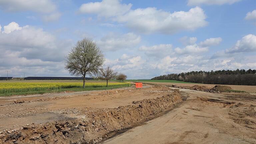
{"type": "Polygon", "coordinates": [[[144,51],[147,56],[163,57],[172,53],[171,44],[160,44],[154,46],[141,46],[140,51],[144,51]]]}

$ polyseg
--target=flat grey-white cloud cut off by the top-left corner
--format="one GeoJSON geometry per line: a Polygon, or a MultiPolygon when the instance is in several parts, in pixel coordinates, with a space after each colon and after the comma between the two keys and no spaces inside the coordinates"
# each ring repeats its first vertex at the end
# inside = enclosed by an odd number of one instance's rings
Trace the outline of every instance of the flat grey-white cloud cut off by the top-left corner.
{"type": "Polygon", "coordinates": [[[9,12],[35,11],[51,13],[56,11],[56,5],[51,0],[1,0],[0,7],[9,12]]]}

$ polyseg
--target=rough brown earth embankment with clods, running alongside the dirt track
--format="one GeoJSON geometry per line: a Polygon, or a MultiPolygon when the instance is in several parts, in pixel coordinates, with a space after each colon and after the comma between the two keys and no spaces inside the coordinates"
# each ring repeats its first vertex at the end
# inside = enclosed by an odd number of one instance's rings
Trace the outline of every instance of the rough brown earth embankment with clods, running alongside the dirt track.
{"type": "Polygon", "coordinates": [[[134,101],[118,108],[84,108],[79,118],[66,118],[21,129],[0,132],[0,143],[81,144],[97,143],[109,134],[130,128],[155,117],[182,101],[179,90],[156,98],[134,101]]]}

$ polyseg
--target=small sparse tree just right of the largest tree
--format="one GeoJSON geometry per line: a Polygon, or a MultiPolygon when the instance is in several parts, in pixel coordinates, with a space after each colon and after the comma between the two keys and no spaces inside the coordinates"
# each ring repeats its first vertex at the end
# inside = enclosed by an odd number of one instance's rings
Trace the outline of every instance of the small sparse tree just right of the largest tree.
{"type": "Polygon", "coordinates": [[[101,80],[106,80],[107,81],[107,86],[108,86],[108,80],[116,77],[117,72],[112,70],[109,66],[106,68],[100,68],[99,73],[98,73],[98,78],[101,80]]]}

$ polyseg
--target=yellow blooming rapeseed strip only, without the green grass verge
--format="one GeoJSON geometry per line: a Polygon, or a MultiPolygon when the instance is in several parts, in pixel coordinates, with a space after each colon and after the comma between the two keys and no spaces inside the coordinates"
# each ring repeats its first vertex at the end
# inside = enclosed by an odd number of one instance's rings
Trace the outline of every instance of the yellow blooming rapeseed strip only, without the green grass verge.
{"type": "MultiPolygon", "coordinates": [[[[109,86],[121,86],[129,83],[109,83],[109,86]]],[[[85,87],[104,87],[104,82],[87,82],[85,87]]],[[[53,90],[60,88],[81,88],[83,83],[77,82],[15,82],[15,83],[0,83],[0,93],[11,93],[11,92],[26,92],[26,91],[41,91],[41,90],[53,90]]]]}

